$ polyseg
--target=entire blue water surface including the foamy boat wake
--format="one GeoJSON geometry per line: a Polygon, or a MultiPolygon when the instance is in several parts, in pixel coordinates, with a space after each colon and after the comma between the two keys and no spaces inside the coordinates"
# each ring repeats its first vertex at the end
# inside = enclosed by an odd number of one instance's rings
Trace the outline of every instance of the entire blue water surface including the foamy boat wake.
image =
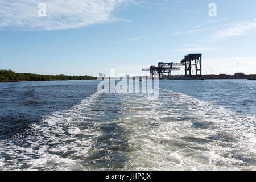
{"type": "Polygon", "coordinates": [[[0,170],[255,170],[256,82],[0,83],[0,170]]]}

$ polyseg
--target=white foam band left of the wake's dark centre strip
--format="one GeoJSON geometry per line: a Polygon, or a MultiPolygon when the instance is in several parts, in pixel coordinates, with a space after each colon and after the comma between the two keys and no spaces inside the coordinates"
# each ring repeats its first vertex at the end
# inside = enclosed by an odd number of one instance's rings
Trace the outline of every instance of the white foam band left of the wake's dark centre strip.
{"type": "Polygon", "coordinates": [[[0,141],[0,169],[86,169],[76,156],[86,156],[93,139],[100,131],[93,131],[95,115],[90,105],[100,93],[94,93],[69,110],[53,113],[33,123],[27,131],[11,139],[0,141]],[[86,115],[85,115],[86,114],[86,115]]]}

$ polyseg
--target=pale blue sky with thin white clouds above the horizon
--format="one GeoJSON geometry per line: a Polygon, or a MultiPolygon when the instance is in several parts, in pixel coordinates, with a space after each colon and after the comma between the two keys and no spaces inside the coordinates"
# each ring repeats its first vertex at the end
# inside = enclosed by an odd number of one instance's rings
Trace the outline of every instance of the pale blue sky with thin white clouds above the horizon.
{"type": "Polygon", "coordinates": [[[0,69],[147,75],[142,68],[202,53],[203,74],[253,74],[255,7],[255,0],[0,0],[0,69]]]}

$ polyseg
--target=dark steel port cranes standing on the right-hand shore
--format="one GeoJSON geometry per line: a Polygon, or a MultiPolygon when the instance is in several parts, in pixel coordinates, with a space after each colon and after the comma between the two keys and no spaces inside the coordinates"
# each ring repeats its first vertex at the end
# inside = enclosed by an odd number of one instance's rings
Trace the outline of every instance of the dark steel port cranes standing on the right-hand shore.
{"type": "Polygon", "coordinates": [[[189,54],[184,56],[184,59],[182,59],[180,63],[159,62],[158,67],[152,65],[150,69],[142,69],[142,71],[150,71],[150,75],[153,78],[158,77],[159,79],[170,79],[172,71],[180,70],[181,67],[185,67],[185,77],[201,77],[202,55],[189,54]]]}

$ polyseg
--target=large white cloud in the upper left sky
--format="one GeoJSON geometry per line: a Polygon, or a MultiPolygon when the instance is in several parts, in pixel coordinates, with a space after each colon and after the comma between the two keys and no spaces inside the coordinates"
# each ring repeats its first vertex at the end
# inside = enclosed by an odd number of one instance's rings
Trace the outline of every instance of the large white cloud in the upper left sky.
{"type": "Polygon", "coordinates": [[[125,1],[129,0],[0,0],[0,28],[58,30],[110,22],[117,20],[112,11],[125,1]],[[46,4],[46,17],[38,16],[41,2],[46,4]]]}

